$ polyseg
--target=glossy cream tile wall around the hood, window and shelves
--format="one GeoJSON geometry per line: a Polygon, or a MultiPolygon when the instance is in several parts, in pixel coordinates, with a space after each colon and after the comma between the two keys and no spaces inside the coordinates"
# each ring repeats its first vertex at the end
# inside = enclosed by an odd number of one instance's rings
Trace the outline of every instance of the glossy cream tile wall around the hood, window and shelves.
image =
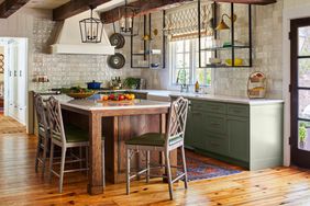
{"type": "MultiPolygon", "coordinates": [[[[225,8],[223,8],[225,11],[225,8]]],[[[236,8],[239,16],[236,37],[245,38],[246,27],[244,16],[247,11],[236,8]]],[[[153,16],[154,24],[160,31],[162,15],[153,16]]],[[[103,85],[115,76],[143,77],[147,80],[148,89],[169,89],[169,64],[166,69],[131,69],[130,38],[122,53],[126,65],[120,70],[109,68],[107,56],[100,55],[55,55],[46,53],[52,44],[55,22],[44,18],[31,18],[32,33],[26,34],[30,39],[30,71],[29,90],[48,90],[52,88],[86,85],[91,80],[102,81],[103,85]],[[36,75],[47,75],[48,83],[36,83],[31,80],[36,75]]],[[[283,0],[265,7],[253,7],[253,67],[252,68],[215,68],[213,72],[213,92],[221,95],[246,96],[247,78],[253,71],[262,71],[267,76],[267,96],[281,98],[281,36],[283,36],[283,0]]],[[[109,35],[113,33],[112,25],[104,25],[109,35]]],[[[4,33],[4,32],[3,32],[4,33]]],[[[224,36],[224,35],[223,35],[224,36]]],[[[168,48],[168,46],[167,46],[168,48]]],[[[168,50],[167,53],[168,54],[168,50]]],[[[240,54],[242,56],[244,54],[240,54]]]]}

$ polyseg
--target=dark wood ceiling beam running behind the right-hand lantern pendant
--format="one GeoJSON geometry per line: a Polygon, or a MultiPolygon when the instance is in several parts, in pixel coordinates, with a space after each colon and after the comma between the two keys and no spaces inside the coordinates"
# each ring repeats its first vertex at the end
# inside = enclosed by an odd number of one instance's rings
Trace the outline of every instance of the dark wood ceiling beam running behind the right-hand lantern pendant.
{"type": "MultiPolygon", "coordinates": [[[[129,5],[134,8],[140,8],[139,15],[146,14],[153,11],[158,10],[165,10],[170,9],[174,7],[178,7],[181,3],[186,2],[192,2],[192,0],[137,0],[132,3],[129,3],[129,5]]],[[[118,7],[115,9],[112,9],[110,11],[102,12],[100,14],[101,20],[104,22],[104,24],[109,24],[112,22],[115,22],[120,19],[119,13],[124,13],[124,7],[118,7]]]]}

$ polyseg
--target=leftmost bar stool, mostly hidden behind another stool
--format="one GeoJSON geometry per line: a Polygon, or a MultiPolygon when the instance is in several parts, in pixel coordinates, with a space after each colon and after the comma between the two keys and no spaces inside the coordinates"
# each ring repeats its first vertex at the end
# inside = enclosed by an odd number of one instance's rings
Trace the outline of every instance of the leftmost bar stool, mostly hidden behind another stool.
{"type": "Polygon", "coordinates": [[[37,135],[38,135],[37,146],[36,146],[36,157],[35,157],[35,172],[37,173],[38,163],[41,163],[42,175],[44,176],[46,156],[48,152],[49,128],[47,124],[46,111],[45,111],[43,98],[40,94],[35,94],[34,105],[35,105],[36,119],[37,119],[37,135]]]}

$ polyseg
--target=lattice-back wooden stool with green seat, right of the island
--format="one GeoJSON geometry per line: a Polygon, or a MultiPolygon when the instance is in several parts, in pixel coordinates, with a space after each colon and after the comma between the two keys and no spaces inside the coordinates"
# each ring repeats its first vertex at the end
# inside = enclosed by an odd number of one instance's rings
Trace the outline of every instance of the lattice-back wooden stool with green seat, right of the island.
{"type": "Polygon", "coordinates": [[[165,168],[167,175],[163,175],[168,179],[169,195],[170,199],[174,198],[173,195],[173,183],[181,180],[184,181],[185,188],[187,188],[187,169],[184,149],[184,135],[186,128],[186,119],[188,112],[188,100],[184,98],[178,98],[176,101],[171,102],[169,117],[168,117],[168,129],[167,134],[159,133],[148,133],[139,137],[134,137],[125,141],[126,146],[126,194],[130,194],[130,180],[146,173],[146,182],[150,181],[150,152],[160,151],[165,154],[165,168]],[[171,165],[169,160],[169,152],[177,148],[181,149],[182,158],[182,172],[180,172],[174,180],[171,179],[171,165]],[[130,161],[135,152],[145,151],[146,152],[146,169],[136,172],[131,175],[130,161]]]}

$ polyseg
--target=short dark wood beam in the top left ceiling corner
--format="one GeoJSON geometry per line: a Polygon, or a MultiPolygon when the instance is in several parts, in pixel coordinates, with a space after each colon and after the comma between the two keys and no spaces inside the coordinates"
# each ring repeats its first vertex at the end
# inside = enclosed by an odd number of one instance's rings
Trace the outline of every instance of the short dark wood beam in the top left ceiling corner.
{"type": "Polygon", "coordinates": [[[15,13],[19,9],[21,9],[24,4],[26,4],[29,0],[5,0],[0,4],[0,18],[5,19],[15,13]]]}

